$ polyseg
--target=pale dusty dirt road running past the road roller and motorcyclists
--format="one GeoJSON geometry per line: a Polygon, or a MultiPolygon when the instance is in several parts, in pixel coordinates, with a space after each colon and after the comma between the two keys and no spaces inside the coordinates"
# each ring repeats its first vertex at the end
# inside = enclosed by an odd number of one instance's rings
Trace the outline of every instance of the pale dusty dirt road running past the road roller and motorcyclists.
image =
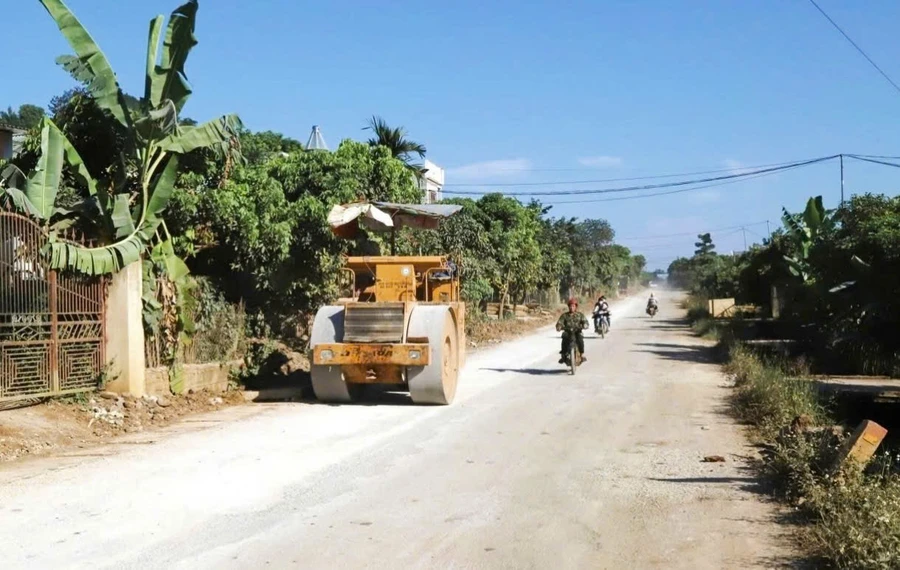
{"type": "Polygon", "coordinates": [[[451,407],[242,408],[5,467],[3,568],[775,567],[725,379],[660,296],[614,304],[574,377],[544,329],[451,407]]]}

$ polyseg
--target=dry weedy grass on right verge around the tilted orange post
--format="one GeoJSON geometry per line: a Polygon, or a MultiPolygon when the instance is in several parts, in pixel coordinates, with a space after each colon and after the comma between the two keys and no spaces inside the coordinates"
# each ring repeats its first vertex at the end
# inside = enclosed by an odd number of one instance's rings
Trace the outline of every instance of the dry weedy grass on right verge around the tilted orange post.
{"type": "Polygon", "coordinates": [[[832,472],[845,431],[834,425],[830,402],[802,379],[804,365],[740,344],[727,354],[732,410],[766,448],[761,475],[806,523],[800,544],[816,567],[900,568],[900,457],[883,451],[865,470],[832,472]]]}

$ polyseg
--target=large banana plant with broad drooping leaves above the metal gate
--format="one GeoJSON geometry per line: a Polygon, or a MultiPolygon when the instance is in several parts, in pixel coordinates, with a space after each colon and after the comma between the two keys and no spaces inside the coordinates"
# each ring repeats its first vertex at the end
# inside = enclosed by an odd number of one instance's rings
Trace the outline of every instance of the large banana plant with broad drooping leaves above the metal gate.
{"type": "Polygon", "coordinates": [[[51,233],[51,265],[90,275],[114,273],[138,261],[154,238],[163,239],[159,236],[160,228],[166,233],[162,214],[174,190],[179,155],[208,148],[240,160],[240,119],[225,115],[197,126],[179,124],[179,114],[191,95],[184,66],[197,45],[196,0],[171,13],[164,37],[164,17],[157,16],[150,22],[144,94],[138,109],[126,105],[106,56],[66,5],[61,0],[40,2],[75,52],[57,62],[84,83],[97,104],[125,127],[128,156],[123,156],[122,162],[136,167],[123,169],[130,173],[117,181],[100,178],[104,183],[98,183],[65,135],[45,119],[37,169],[24,190],[7,188],[6,193],[21,209],[49,223],[56,213],[64,214],[56,212],[53,203],[63,162],[67,162],[86,186],[95,212],[114,230],[114,239],[99,247],[84,247],[58,240],[51,233]],[[132,192],[132,188],[138,191],[132,192]]]}

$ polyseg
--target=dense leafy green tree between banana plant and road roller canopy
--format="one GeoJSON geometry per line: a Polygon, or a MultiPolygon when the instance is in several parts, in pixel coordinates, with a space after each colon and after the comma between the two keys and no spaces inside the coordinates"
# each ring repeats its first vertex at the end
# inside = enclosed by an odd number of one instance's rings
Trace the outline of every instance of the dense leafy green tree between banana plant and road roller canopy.
{"type": "Polygon", "coordinates": [[[334,152],[260,156],[268,158],[236,167],[221,185],[184,176],[169,225],[194,273],[287,330],[333,300],[341,254],[358,246],[332,235],[331,208],[359,199],[410,202],[419,191],[405,165],[380,146],[345,140],[334,152]]]}

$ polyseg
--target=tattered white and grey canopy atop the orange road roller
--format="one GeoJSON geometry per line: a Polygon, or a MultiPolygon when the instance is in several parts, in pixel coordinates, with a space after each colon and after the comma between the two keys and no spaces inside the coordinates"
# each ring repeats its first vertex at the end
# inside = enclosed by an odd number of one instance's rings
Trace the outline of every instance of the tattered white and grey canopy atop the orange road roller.
{"type": "Polygon", "coordinates": [[[362,226],[375,232],[393,232],[401,227],[433,230],[462,206],[453,204],[393,204],[390,202],[354,202],[335,206],[328,214],[334,235],[352,239],[362,226]]]}

